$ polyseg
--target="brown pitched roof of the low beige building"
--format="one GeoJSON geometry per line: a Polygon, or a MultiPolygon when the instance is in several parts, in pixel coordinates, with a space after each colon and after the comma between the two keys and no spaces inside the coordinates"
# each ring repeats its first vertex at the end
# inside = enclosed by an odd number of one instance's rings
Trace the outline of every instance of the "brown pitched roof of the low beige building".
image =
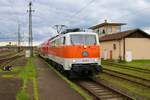
{"type": "Polygon", "coordinates": [[[120,40],[126,37],[147,37],[150,38],[150,35],[141,29],[132,29],[123,32],[117,32],[112,34],[106,34],[104,36],[99,37],[100,41],[112,41],[112,40],[120,40]]]}

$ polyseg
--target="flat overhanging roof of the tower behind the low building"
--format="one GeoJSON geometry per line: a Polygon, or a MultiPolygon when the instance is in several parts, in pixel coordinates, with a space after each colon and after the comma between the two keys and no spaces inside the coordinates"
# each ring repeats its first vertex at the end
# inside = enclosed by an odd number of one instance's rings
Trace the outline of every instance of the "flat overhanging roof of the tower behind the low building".
{"type": "Polygon", "coordinates": [[[90,27],[89,29],[96,29],[102,26],[106,26],[106,25],[112,25],[112,26],[121,26],[121,25],[126,25],[125,23],[108,23],[108,22],[104,22],[95,26],[90,27]]]}

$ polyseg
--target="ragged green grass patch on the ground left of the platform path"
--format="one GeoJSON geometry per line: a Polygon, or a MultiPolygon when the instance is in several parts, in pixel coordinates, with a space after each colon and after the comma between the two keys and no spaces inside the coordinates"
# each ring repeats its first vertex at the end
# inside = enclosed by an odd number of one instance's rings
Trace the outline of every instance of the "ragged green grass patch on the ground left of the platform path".
{"type": "Polygon", "coordinates": [[[36,80],[36,68],[34,64],[34,58],[29,58],[27,65],[23,67],[18,77],[23,79],[22,89],[17,94],[17,100],[29,100],[29,94],[27,93],[27,83],[29,80],[33,81],[34,100],[38,100],[38,89],[36,80]]]}

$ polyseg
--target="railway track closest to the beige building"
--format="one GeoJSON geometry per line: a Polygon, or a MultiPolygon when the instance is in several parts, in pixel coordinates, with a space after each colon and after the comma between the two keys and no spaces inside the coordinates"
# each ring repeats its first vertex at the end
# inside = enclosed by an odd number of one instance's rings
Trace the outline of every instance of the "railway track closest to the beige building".
{"type": "Polygon", "coordinates": [[[127,66],[127,65],[123,65],[123,64],[117,64],[117,63],[113,63],[113,62],[104,62],[104,64],[109,65],[109,66],[122,68],[122,69],[129,69],[129,70],[134,70],[134,71],[137,71],[137,72],[150,74],[150,70],[148,70],[148,69],[137,68],[137,67],[127,66]]]}

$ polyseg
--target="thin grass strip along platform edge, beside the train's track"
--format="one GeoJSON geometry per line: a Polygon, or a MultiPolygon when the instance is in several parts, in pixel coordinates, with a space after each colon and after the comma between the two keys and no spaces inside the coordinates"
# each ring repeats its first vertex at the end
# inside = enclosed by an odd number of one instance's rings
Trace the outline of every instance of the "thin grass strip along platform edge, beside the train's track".
{"type": "MultiPolygon", "coordinates": [[[[47,62],[46,62],[47,63],[47,62]]],[[[77,91],[82,97],[84,97],[86,100],[92,100],[92,97],[89,96],[83,89],[81,89],[79,86],[68,80],[65,76],[63,76],[61,73],[59,73],[57,70],[55,70],[51,65],[47,63],[47,65],[56,73],[59,77],[61,77],[66,83],[69,84],[70,88],[77,91]]]]}

